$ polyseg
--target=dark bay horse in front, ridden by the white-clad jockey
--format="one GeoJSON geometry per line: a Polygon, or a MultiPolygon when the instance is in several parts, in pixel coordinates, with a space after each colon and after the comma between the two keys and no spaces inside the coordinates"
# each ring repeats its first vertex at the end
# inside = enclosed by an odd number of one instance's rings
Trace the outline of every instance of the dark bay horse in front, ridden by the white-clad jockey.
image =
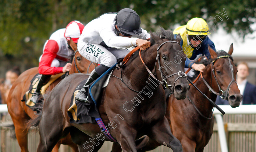
{"type": "MultiPolygon", "coordinates": [[[[124,152],[136,152],[135,139],[142,135],[150,136],[158,143],[172,148],[174,152],[182,151],[180,141],[172,135],[165,117],[165,93],[159,83],[163,83],[164,77],[167,83],[165,85],[174,91],[176,98],[186,98],[189,85],[181,72],[184,71],[185,58],[183,51],[182,55],[178,52],[181,50],[180,35],[175,40],[173,33],[164,29],[161,30],[161,35],[164,39],[151,33],[152,46],[141,52],[141,58],[149,71],[159,69],[159,65],[160,69],[165,69],[161,71],[162,75],[160,70],[154,72],[157,80],[150,81],[153,78],[150,79],[139,55],[135,55],[123,69],[123,81],[118,79],[121,70],[115,69],[107,87],[103,89],[99,112],[103,122],[108,125],[110,134],[124,152]],[[175,59],[178,64],[170,66],[170,63],[174,64],[175,59]],[[164,65],[168,67],[165,68],[164,65]],[[154,84],[156,82],[158,85],[154,84]]],[[[80,151],[98,151],[104,140],[110,141],[107,136],[101,134],[97,123],[69,123],[67,110],[70,98],[85,78],[87,76],[84,74],[69,75],[45,99],[42,113],[34,119],[37,123],[40,121],[38,152],[51,151],[57,141],[69,132],[80,151]]]]}

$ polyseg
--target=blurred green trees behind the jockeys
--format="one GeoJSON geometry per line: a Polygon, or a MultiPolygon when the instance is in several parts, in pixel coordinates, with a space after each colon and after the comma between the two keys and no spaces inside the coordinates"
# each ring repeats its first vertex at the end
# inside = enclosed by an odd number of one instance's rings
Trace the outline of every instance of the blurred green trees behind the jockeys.
{"type": "MultiPolygon", "coordinates": [[[[5,71],[18,65],[21,71],[38,66],[45,41],[72,20],[84,25],[106,12],[131,8],[141,18],[141,26],[156,31],[159,26],[173,30],[193,17],[223,13],[221,26],[229,33],[244,37],[256,22],[255,0],[0,0],[0,78],[5,71]]],[[[218,28],[218,26],[216,27],[218,28]]]]}

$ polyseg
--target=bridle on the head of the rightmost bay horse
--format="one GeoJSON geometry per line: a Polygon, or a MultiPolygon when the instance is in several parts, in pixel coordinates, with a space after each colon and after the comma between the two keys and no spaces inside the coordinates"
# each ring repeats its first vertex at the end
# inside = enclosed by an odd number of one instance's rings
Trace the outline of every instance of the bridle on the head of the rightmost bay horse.
{"type": "Polygon", "coordinates": [[[213,90],[213,88],[205,81],[205,79],[204,79],[202,73],[200,73],[200,74],[201,74],[201,78],[202,78],[203,81],[204,81],[204,84],[209,88],[210,92],[214,93],[215,95],[219,95],[219,96],[220,96],[222,99],[224,99],[224,100],[225,100],[225,99],[227,98],[227,96],[228,96],[228,91],[229,91],[229,88],[230,88],[230,85],[232,84],[232,82],[235,82],[235,83],[236,83],[235,77],[234,77],[234,69],[233,69],[233,66],[232,66],[230,60],[232,60],[232,59],[231,59],[231,57],[230,57],[229,55],[223,55],[223,56],[217,57],[217,58],[216,58],[215,60],[213,60],[212,63],[211,63],[211,64],[212,64],[212,65],[211,65],[211,68],[212,68],[212,70],[211,70],[211,84],[212,84],[212,74],[213,74],[213,76],[214,76],[214,78],[215,78],[215,81],[217,82],[217,85],[218,85],[218,88],[219,88],[219,93],[217,93],[217,92],[215,92],[215,91],[213,90]],[[228,60],[229,60],[229,68],[230,68],[230,70],[231,70],[232,80],[231,80],[231,82],[229,83],[227,89],[226,89],[225,91],[223,91],[223,90],[220,88],[219,82],[217,81],[213,64],[214,64],[214,62],[215,62],[216,60],[218,60],[219,58],[225,58],[225,57],[228,57],[228,60]]]}

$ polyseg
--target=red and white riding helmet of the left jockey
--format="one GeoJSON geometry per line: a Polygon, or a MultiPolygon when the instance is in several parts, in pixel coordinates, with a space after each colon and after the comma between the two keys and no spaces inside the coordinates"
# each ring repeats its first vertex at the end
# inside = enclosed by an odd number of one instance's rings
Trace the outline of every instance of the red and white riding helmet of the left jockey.
{"type": "Polygon", "coordinates": [[[71,39],[77,43],[77,40],[79,39],[80,35],[82,34],[82,31],[84,29],[84,25],[79,21],[72,21],[70,22],[65,30],[64,36],[67,40],[71,39]]]}

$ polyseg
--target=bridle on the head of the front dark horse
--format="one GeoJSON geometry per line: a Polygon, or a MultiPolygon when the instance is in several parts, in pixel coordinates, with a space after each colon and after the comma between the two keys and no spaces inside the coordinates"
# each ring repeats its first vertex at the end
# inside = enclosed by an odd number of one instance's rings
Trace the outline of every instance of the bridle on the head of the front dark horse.
{"type": "MultiPolygon", "coordinates": [[[[173,42],[173,43],[178,43],[179,45],[180,45],[180,43],[179,42],[176,42],[176,41],[165,41],[165,42],[163,42],[162,44],[160,44],[158,47],[157,47],[157,55],[156,55],[156,61],[155,61],[155,72],[156,72],[156,62],[158,62],[158,66],[159,66],[159,68],[161,67],[161,64],[160,64],[160,56],[159,56],[159,49],[160,49],[160,47],[162,47],[162,45],[164,45],[165,43],[168,43],[168,42],[173,42]]],[[[140,52],[141,52],[141,50],[140,50],[140,52]]],[[[139,52],[139,54],[140,54],[140,52],[139,52]]],[[[140,55],[140,60],[142,61],[142,63],[143,63],[143,65],[146,67],[146,69],[147,69],[147,71],[148,71],[148,74],[152,77],[152,78],[154,78],[156,81],[158,81],[159,83],[161,83],[165,88],[169,88],[169,87],[172,87],[172,86],[174,86],[175,85],[175,82],[179,79],[179,78],[185,78],[187,75],[184,73],[184,72],[182,72],[182,71],[178,71],[178,72],[176,72],[176,73],[173,73],[173,74],[171,74],[171,75],[169,75],[169,76],[164,76],[164,74],[163,74],[163,72],[162,72],[162,70],[159,70],[160,71],[160,74],[161,74],[161,80],[162,81],[159,81],[153,74],[152,74],[152,72],[148,69],[148,67],[146,66],[146,64],[144,63],[144,61],[142,60],[142,58],[141,58],[141,55],[140,55]],[[172,77],[172,76],[174,76],[174,75],[178,75],[178,77],[175,79],[175,81],[173,82],[173,85],[169,85],[168,83],[167,83],[167,78],[170,78],[170,77],[172,77]]],[[[174,89],[174,87],[172,87],[172,91],[173,91],[173,89],[174,89]]]]}

